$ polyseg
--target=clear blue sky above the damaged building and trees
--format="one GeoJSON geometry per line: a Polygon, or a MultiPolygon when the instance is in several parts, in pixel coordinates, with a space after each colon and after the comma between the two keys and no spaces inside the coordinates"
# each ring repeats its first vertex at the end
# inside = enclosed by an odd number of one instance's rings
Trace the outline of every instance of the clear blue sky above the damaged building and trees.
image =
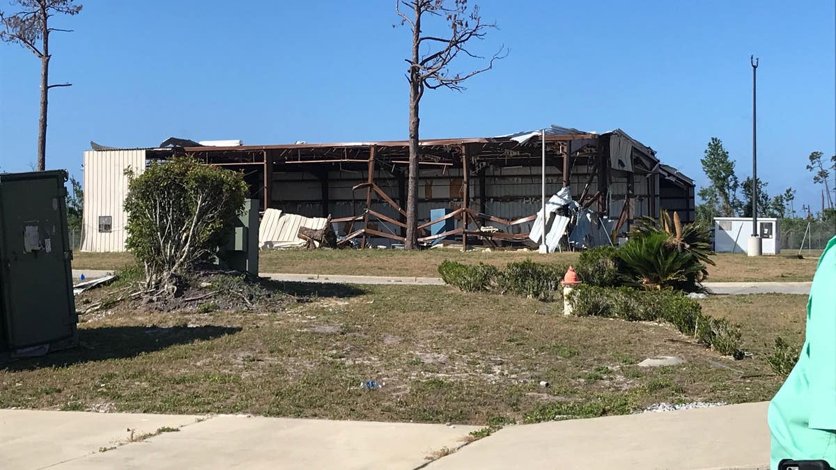
{"type": "MultiPolygon", "coordinates": [[[[422,138],[618,127],[702,185],[717,136],[744,178],[756,54],[759,176],[771,193],[796,188],[797,208],[820,205],[804,165],[836,153],[833,0],[471,3],[500,27],[477,50],[511,54],[463,93],[428,91],[422,138]]],[[[404,139],[410,33],[393,28],[394,4],[87,0],[54,20],[75,32],[54,33],[50,81],[74,85],[51,90],[47,166],[80,177],[90,140],[404,139]]],[[[38,74],[33,54],[0,44],[3,171],[36,160],[38,74]]]]}

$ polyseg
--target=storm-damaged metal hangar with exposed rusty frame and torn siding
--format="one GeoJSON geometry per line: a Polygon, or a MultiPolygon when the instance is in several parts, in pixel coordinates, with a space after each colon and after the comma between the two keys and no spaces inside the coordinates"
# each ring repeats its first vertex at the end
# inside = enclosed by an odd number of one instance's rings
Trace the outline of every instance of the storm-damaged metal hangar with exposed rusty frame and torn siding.
{"type": "MultiPolygon", "coordinates": [[[[263,210],[329,218],[341,246],[403,243],[409,160],[405,140],[269,146],[166,142],[169,146],[153,149],[99,147],[85,152],[83,251],[125,249],[120,232],[126,221],[121,207],[126,186],[124,181],[98,180],[120,180],[125,164],[136,171],[150,160],[173,155],[242,171],[250,197],[263,210]],[[108,194],[99,193],[103,190],[108,194]],[[110,217],[104,219],[109,226],[102,224],[102,217],[110,217]]],[[[421,140],[419,242],[536,245],[529,234],[538,232],[534,225],[541,209],[543,146],[547,197],[568,187],[571,204],[558,212],[570,219],[566,233],[571,235],[582,220],[588,225],[582,237],[560,237],[557,248],[610,243],[636,218],[658,216],[660,208],[679,212],[683,222],[694,220],[694,182],[662,164],[649,146],[623,130],[598,134],[551,126],[544,137],[542,130],[533,130],[421,140]]]]}

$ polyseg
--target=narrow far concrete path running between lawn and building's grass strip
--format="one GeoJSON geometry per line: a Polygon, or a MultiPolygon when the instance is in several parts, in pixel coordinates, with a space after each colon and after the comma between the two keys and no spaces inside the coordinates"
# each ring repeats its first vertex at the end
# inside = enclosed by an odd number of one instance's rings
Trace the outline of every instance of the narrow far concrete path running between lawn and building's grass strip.
{"type": "MultiPolygon", "coordinates": [[[[97,269],[73,269],[73,277],[100,278],[111,271],[97,269]]],[[[340,274],[292,274],[261,273],[274,281],[324,284],[378,284],[378,285],[444,285],[441,278],[392,277],[392,276],[348,276],[340,274]]],[[[807,295],[812,283],[706,283],[714,294],[800,294],[807,295]]]]}

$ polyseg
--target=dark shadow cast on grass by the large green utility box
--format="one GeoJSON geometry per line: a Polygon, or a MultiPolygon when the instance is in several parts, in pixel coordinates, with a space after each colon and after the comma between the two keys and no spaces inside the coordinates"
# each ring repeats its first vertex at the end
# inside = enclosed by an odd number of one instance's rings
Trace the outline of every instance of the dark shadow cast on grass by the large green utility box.
{"type": "Polygon", "coordinates": [[[79,329],[79,346],[59,350],[48,355],[19,359],[0,365],[0,370],[34,370],[43,367],[64,367],[84,362],[125,359],[137,355],[165,350],[174,345],[186,345],[196,341],[214,340],[234,335],[239,327],[229,326],[106,326],[79,329]]]}

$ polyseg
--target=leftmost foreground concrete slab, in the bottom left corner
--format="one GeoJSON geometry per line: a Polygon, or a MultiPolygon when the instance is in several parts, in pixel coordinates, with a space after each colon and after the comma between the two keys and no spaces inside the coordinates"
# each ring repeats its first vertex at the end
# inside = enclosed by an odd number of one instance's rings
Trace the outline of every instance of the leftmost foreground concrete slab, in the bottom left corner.
{"type": "Polygon", "coordinates": [[[0,410],[0,467],[43,468],[99,452],[135,433],[180,427],[200,416],[0,410]]]}

